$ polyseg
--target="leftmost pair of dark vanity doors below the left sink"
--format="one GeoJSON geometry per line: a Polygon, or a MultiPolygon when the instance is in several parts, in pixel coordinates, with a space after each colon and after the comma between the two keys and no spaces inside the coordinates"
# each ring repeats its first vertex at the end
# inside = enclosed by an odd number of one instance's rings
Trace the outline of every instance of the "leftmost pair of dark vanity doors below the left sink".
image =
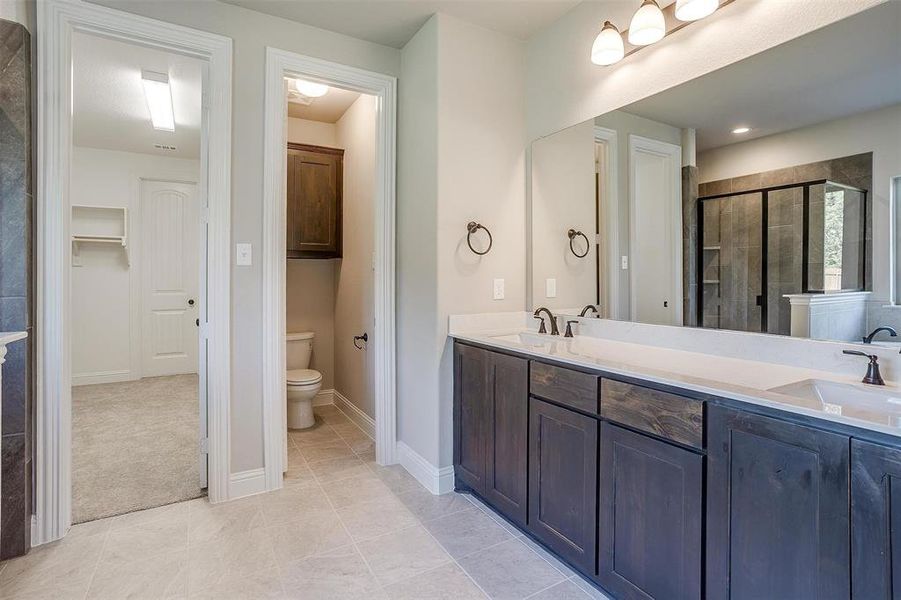
{"type": "Polygon", "coordinates": [[[525,526],[529,363],[456,344],[454,381],[455,476],[525,526]]]}

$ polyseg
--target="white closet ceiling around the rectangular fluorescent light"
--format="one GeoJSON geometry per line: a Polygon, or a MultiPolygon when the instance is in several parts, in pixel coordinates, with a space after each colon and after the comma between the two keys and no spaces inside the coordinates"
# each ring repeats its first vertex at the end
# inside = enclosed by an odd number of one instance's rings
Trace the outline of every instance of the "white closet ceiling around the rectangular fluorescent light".
{"type": "Polygon", "coordinates": [[[96,36],[72,36],[74,143],[198,158],[200,156],[201,66],[199,60],[96,36]],[[156,131],[144,99],[141,70],[169,74],[175,131],[156,131]],[[154,144],[175,146],[157,150],[154,144]]]}

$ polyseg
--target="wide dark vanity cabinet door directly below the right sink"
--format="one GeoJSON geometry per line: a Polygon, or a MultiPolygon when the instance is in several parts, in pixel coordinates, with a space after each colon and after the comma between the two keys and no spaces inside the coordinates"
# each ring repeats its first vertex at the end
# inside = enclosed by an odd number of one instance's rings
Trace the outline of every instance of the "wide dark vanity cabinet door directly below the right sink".
{"type": "Polygon", "coordinates": [[[708,411],[707,598],[848,598],[848,436],[708,411]]]}

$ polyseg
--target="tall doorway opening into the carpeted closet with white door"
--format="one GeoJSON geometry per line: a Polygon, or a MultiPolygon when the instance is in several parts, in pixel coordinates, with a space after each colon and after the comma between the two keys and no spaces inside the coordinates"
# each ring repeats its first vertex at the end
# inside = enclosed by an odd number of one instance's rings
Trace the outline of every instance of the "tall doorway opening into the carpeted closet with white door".
{"type": "Polygon", "coordinates": [[[82,523],[206,487],[203,63],[71,39],[72,522],[82,523]]]}

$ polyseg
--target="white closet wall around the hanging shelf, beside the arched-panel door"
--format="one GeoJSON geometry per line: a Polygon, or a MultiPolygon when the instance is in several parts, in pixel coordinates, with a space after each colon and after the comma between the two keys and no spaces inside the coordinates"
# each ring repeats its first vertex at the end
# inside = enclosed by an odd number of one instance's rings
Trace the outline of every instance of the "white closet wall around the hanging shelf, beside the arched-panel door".
{"type": "Polygon", "coordinates": [[[81,266],[72,268],[72,381],[78,385],[138,379],[140,180],[197,181],[200,163],[83,147],[75,147],[72,157],[72,204],[127,207],[130,258],[129,266],[125,253],[118,248],[82,245],[81,266]]]}

